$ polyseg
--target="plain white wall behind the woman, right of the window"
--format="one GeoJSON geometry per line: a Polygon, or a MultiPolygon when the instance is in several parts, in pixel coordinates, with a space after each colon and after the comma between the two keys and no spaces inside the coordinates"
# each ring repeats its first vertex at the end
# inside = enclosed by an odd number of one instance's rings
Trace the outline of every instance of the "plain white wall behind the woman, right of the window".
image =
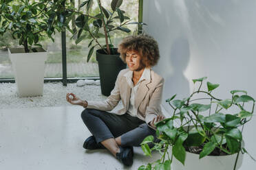
{"type": "MultiPolygon", "coordinates": [[[[256,98],[255,0],[144,0],[145,30],[156,38],[160,61],[153,69],[165,79],[164,100],[193,91],[194,78],[208,77],[222,99],[233,89],[256,98]]],[[[255,112],[256,114],[256,112],[255,112]]],[[[256,119],[244,129],[246,148],[256,158],[256,119]]],[[[241,169],[255,169],[245,156],[241,169]]]]}

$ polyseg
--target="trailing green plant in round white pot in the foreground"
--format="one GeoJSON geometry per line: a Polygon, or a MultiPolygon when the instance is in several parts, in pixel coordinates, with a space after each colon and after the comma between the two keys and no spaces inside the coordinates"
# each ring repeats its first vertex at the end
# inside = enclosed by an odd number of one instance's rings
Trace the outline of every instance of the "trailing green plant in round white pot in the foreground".
{"type": "Polygon", "coordinates": [[[174,95],[167,99],[173,113],[156,123],[160,143],[150,149],[153,136],[141,143],[147,156],[158,150],[161,158],[138,169],[171,169],[171,164],[175,170],[235,170],[241,166],[242,154],[248,154],[242,132],[253,117],[255,99],[245,90],[231,90],[231,99],[218,99],[212,92],[219,84],[207,82],[208,90],[201,90],[205,79],[193,80],[200,82],[199,88],[188,98],[173,100],[174,95]]]}

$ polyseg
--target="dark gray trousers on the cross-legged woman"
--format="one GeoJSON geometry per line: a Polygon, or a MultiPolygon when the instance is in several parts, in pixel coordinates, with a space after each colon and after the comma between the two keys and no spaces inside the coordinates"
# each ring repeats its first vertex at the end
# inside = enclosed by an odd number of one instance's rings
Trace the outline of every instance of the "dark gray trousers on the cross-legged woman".
{"type": "Polygon", "coordinates": [[[140,146],[144,138],[149,135],[153,135],[156,139],[156,130],[149,127],[145,121],[127,113],[118,115],[87,108],[83,110],[81,117],[97,143],[121,136],[121,146],[126,147],[140,146]]]}

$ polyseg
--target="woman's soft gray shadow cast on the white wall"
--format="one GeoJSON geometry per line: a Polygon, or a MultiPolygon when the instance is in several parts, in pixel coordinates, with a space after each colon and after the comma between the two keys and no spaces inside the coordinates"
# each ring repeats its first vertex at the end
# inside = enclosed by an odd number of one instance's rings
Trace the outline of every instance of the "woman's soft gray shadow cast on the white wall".
{"type": "MultiPolygon", "coordinates": [[[[176,99],[183,99],[189,96],[189,81],[184,76],[184,71],[189,64],[190,50],[189,42],[185,37],[178,37],[171,45],[169,62],[173,67],[173,74],[165,78],[163,99],[169,99],[177,94],[176,99]]],[[[168,104],[164,104],[164,108],[169,110],[168,104]]]]}

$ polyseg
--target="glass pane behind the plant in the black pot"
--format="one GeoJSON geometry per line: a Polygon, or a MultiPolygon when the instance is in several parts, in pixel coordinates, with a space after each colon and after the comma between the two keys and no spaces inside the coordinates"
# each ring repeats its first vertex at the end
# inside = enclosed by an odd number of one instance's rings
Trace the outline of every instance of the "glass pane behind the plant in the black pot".
{"type": "MultiPolygon", "coordinates": [[[[104,0],[101,1],[104,8],[109,11],[111,10],[111,0],[104,0]]],[[[75,7],[78,8],[78,1],[75,1],[75,7]]],[[[85,10],[85,7],[82,8],[85,10]]],[[[138,1],[123,1],[122,5],[120,6],[120,10],[125,11],[125,16],[128,16],[131,21],[138,21],[138,1]]],[[[84,11],[83,11],[84,12],[84,11]]],[[[94,1],[92,5],[92,11],[89,12],[90,15],[95,16],[98,14],[98,4],[94,1]]],[[[77,17],[77,16],[76,16],[77,17]]],[[[118,21],[118,19],[116,19],[118,21]]],[[[128,20],[125,20],[128,21],[128,20]]],[[[119,21],[116,23],[120,23],[119,21]]],[[[92,26],[92,23],[90,23],[92,26]]],[[[90,26],[90,25],[89,25],[90,26]]],[[[70,24],[72,27],[72,23],[70,24]]],[[[128,25],[131,32],[129,34],[122,32],[120,30],[116,30],[111,32],[110,36],[112,37],[111,40],[115,47],[117,47],[118,43],[122,38],[125,36],[134,34],[134,30],[136,29],[136,25],[128,25]]],[[[102,32],[103,33],[103,32],[102,32]]],[[[83,32],[82,35],[87,35],[89,33],[83,32]]],[[[89,42],[92,39],[83,39],[77,45],[75,43],[75,38],[72,37],[72,34],[67,31],[67,77],[98,77],[98,62],[96,61],[95,50],[90,58],[89,62],[87,62],[87,54],[89,52],[89,42]]],[[[98,42],[101,45],[105,45],[105,38],[98,38],[98,42]]]]}

